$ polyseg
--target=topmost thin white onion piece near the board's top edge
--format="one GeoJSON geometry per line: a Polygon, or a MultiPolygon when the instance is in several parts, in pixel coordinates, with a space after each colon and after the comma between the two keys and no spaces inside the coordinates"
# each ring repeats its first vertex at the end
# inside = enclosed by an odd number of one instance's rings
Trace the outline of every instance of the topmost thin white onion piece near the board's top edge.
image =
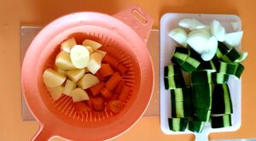
{"type": "Polygon", "coordinates": [[[178,22],[178,25],[187,28],[190,31],[193,31],[195,29],[201,29],[204,28],[205,25],[203,25],[200,21],[195,19],[183,19],[178,22]]]}

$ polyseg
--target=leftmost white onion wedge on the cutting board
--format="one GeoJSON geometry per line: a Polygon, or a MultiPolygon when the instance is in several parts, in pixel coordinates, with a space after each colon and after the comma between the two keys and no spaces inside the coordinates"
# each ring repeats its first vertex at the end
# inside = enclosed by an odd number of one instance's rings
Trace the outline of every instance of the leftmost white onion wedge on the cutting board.
{"type": "Polygon", "coordinates": [[[172,37],[174,41],[182,45],[183,47],[187,47],[187,33],[182,28],[175,28],[168,33],[169,37],[172,37]]]}

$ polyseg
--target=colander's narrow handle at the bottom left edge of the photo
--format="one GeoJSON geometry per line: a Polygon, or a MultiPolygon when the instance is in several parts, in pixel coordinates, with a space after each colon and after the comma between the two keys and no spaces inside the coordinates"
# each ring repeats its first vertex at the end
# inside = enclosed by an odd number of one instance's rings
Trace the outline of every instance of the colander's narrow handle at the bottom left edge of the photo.
{"type": "Polygon", "coordinates": [[[40,126],[38,129],[38,133],[32,138],[32,141],[48,141],[49,138],[52,138],[51,132],[48,130],[47,127],[40,126]]]}

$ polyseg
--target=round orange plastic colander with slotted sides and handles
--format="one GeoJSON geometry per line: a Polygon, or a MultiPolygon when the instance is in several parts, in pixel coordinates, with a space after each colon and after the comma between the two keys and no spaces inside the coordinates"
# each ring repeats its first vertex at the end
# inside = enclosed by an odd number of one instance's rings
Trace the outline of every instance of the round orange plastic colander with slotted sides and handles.
{"type": "Polygon", "coordinates": [[[137,122],[148,106],[154,86],[154,70],[146,42],[153,20],[137,6],[113,16],[75,13],[61,17],[44,27],[26,52],[21,70],[26,104],[39,121],[33,140],[61,136],[71,140],[103,140],[123,133],[137,122]],[[140,17],[139,17],[140,16],[140,17]],[[130,70],[123,80],[132,92],[125,108],[117,115],[102,112],[78,113],[70,97],[53,101],[42,81],[46,68],[53,67],[60,43],[75,37],[101,42],[102,50],[119,59],[130,70]]]}

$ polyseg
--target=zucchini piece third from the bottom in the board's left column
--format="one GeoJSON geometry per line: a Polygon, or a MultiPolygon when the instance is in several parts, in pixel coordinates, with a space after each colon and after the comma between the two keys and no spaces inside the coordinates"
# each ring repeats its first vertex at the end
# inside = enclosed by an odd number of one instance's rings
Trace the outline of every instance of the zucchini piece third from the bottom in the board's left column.
{"type": "Polygon", "coordinates": [[[182,102],[191,100],[191,88],[175,88],[171,89],[171,101],[172,102],[182,102]]]}

